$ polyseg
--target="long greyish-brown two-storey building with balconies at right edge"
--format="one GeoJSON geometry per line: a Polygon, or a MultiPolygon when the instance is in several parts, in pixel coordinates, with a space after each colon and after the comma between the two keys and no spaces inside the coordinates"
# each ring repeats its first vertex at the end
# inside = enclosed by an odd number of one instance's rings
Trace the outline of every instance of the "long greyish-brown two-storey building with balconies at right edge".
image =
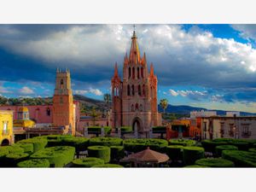
{"type": "Polygon", "coordinates": [[[201,119],[202,139],[253,138],[256,139],[256,116],[204,117],[201,119]]]}

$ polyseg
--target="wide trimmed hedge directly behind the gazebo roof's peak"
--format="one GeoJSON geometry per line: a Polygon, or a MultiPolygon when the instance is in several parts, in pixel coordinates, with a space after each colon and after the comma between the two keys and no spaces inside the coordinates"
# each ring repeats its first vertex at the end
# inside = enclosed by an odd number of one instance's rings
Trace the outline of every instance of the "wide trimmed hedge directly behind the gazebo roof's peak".
{"type": "Polygon", "coordinates": [[[130,152],[139,152],[148,147],[155,151],[165,152],[166,146],[168,146],[168,142],[165,139],[154,138],[125,139],[123,143],[125,150],[130,152]]]}

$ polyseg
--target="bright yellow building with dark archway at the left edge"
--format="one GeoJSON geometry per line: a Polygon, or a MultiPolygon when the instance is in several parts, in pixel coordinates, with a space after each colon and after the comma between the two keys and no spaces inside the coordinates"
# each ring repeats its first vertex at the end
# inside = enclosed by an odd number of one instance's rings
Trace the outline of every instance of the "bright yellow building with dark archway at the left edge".
{"type": "Polygon", "coordinates": [[[13,138],[13,112],[0,110],[0,144],[12,144],[13,138]]]}

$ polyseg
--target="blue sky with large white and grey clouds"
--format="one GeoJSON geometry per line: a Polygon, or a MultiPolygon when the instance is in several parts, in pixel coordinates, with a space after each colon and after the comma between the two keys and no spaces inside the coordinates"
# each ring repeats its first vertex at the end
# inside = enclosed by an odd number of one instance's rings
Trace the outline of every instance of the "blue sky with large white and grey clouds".
{"type": "MultiPolygon", "coordinates": [[[[73,93],[110,93],[131,46],[131,25],[0,25],[0,94],[52,96],[55,69],[73,93]]],[[[256,25],[137,25],[158,96],[173,105],[256,112],[256,25]]]]}

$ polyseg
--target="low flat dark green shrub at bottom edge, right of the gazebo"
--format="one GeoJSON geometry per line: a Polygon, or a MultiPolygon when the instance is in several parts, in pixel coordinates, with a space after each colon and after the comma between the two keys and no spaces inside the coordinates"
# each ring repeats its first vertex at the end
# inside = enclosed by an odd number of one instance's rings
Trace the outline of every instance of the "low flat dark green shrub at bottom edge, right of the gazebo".
{"type": "Polygon", "coordinates": [[[209,166],[209,167],[234,167],[234,163],[230,160],[224,160],[221,158],[207,158],[196,160],[195,165],[209,166]]]}

